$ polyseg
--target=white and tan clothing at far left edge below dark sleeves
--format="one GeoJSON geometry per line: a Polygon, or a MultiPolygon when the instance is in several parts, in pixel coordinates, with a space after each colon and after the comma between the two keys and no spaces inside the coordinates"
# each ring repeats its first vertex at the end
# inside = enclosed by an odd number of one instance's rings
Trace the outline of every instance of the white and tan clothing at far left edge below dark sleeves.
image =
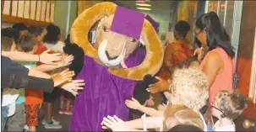
{"type": "Polygon", "coordinates": [[[2,107],[8,106],[8,117],[15,114],[16,99],[19,97],[19,89],[3,88],[2,107]]]}

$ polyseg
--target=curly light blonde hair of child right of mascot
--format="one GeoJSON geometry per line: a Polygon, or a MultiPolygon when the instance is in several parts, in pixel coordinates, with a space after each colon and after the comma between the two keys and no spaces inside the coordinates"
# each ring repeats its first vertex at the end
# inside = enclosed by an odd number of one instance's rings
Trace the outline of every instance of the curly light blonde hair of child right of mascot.
{"type": "Polygon", "coordinates": [[[177,69],[172,75],[172,96],[177,104],[183,104],[199,112],[209,98],[209,82],[199,69],[177,69]]]}

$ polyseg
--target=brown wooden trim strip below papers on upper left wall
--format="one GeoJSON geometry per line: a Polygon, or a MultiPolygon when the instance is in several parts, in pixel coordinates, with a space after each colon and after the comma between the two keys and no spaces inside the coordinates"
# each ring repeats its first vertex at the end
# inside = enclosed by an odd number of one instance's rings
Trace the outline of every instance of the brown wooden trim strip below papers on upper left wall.
{"type": "Polygon", "coordinates": [[[24,23],[26,25],[37,25],[37,26],[47,26],[48,24],[53,24],[53,23],[35,21],[27,18],[18,18],[18,17],[3,14],[3,13],[1,18],[2,18],[2,23],[11,23],[11,24],[24,23]]]}

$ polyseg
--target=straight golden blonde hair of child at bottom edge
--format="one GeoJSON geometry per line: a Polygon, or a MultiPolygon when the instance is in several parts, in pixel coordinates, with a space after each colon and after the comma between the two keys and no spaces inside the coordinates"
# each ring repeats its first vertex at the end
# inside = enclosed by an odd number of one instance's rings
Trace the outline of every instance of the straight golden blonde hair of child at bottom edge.
{"type": "Polygon", "coordinates": [[[164,112],[163,131],[172,129],[179,124],[188,124],[204,129],[204,123],[199,114],[184,105],[172,105],[164,112]]]}

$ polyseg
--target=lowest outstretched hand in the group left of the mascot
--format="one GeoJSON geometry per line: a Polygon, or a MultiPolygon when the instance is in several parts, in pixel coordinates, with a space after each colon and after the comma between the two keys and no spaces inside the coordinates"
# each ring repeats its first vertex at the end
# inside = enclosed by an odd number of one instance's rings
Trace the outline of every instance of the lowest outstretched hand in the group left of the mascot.
{"type": "Polygon", "coordinates": [[[84,89],[84,80],[73,80],[65,83],[62,88],[76,96],[78,94],[78,90],[84,89]]]}

